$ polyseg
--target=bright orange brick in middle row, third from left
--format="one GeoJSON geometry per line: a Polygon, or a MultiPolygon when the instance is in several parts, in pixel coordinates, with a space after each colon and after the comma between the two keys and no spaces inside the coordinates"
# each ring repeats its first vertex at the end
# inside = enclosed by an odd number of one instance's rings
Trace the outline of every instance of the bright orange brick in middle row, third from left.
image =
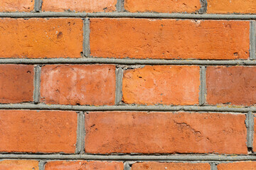
{"type": "Polygon", "coordinates": [[[200,68],[146,66],[124,71],[124,103],[194,105],[198,103],[200,68]]]}

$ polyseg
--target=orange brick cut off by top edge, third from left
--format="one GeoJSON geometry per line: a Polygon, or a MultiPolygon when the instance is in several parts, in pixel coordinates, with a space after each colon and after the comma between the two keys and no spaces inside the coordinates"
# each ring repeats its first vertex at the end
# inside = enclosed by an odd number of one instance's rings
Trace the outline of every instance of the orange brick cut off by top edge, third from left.
{"type": "Polygon", "coordinates": [[[201,8],[199,0],[124,0],[124,8],[129,12],[159,12],[159,13],[192,13],[201,8]]]}

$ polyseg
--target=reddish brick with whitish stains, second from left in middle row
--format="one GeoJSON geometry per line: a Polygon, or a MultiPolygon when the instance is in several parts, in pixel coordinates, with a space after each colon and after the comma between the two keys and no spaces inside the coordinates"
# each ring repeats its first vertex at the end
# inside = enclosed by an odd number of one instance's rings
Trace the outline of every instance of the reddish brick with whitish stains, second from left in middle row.
{"type": "Polygon", "coordinates": [[[41,101],[66,105],[114,105],[114,65],[47,65],[41,101]]]}

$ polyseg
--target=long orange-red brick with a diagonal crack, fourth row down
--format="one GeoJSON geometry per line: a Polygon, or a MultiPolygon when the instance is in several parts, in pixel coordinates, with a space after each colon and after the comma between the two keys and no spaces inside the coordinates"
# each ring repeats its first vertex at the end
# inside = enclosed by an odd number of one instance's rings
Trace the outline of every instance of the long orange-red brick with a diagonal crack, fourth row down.
{"type": "Polygon", "coordinates": [[[85,131],[93,154],[247,154],[242,114],[95,112],[85,115],[85,131]]]}

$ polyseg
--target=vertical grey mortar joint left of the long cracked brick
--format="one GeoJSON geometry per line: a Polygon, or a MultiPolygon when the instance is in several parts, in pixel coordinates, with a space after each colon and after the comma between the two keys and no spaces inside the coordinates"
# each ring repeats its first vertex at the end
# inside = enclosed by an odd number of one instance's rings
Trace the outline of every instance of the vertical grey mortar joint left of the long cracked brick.
{"type": "Polygon", "coordinates": [[[78,112],[77,142],[75,153],[83,154],[85,151],[85,114],[78,112]]]}

